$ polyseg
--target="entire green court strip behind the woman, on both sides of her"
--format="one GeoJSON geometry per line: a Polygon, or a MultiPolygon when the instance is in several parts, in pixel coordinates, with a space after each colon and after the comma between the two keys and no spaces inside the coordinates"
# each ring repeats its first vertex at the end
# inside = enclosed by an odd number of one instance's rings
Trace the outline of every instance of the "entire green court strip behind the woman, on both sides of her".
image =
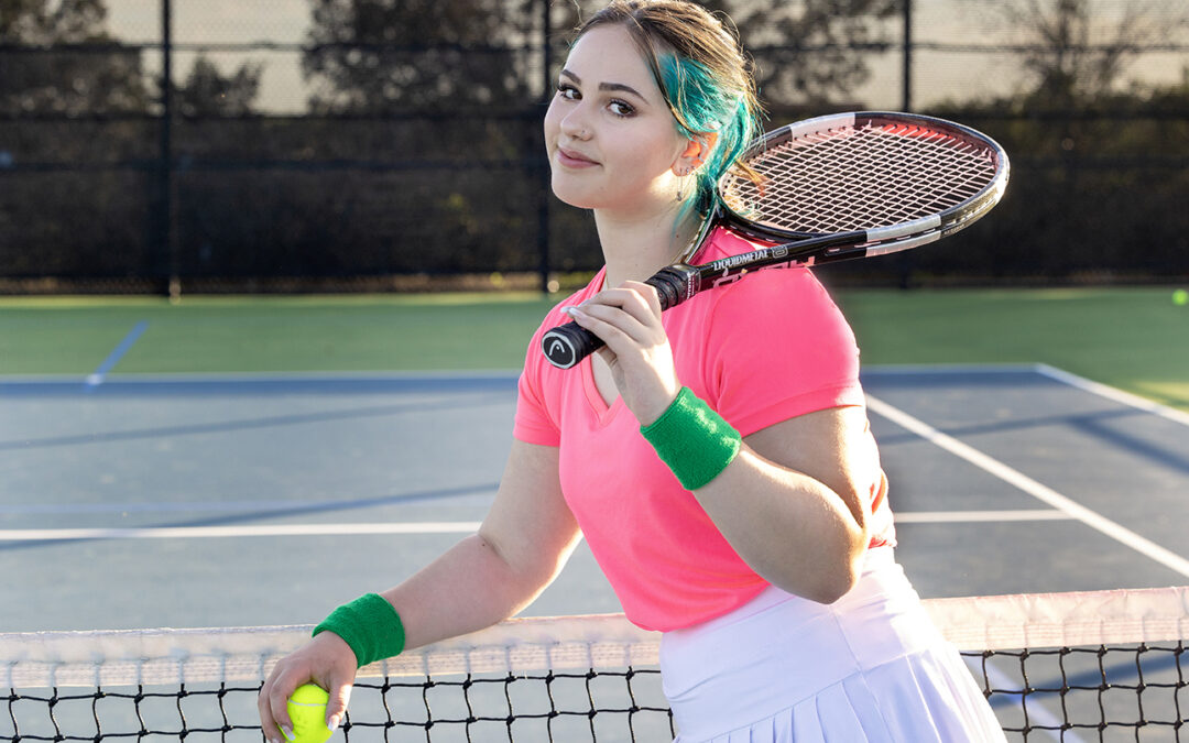
{"type": "MultiPolygon", "coordinates": [[[[1189,410],[1189,307],[1171,297],[1172,288],[836,292],[864,364],[1043,363],[1189,410]]],[[[111,373],[508,370],[560,298],[7,297],[0,374],[81,376],[105,360],[111,373]]]]}

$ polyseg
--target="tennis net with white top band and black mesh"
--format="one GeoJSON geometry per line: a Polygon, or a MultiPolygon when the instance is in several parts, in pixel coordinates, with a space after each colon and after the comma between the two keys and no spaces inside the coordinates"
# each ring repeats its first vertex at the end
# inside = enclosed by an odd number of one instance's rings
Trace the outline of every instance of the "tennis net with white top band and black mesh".
{"type": "MultiPolygon", "coordinates": [[[[933,599],[1011,741],[1189,741],[1189,587],[933,599]]],[[[0,739],[260,741],[308,626],[0,635],[0,739]]],[[[514,619],[361,669],[338,739],[669,741],[659,637],[514,619]]]]}

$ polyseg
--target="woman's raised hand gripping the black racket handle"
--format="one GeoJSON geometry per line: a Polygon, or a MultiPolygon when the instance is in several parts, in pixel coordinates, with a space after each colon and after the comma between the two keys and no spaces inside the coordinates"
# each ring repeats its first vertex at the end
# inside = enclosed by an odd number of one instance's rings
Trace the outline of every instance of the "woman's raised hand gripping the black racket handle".
{"type": "Polygon", "coordinates": [[[619,397],[641,426],[659,418],[681,391],[681,383],[661,325],[656,290],[642,282],[624,282],[570,308],[570,315],[606,344],[597,353],[611,367],[619,397]]]}

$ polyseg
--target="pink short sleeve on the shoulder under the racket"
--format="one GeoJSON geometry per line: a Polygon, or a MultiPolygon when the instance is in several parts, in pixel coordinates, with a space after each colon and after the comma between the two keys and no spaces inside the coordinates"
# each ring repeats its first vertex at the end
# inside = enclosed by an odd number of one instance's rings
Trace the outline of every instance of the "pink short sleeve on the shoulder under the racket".
{"type": "Polygon", "coordinates": [[[725,289],[705,378],[716,410],[741,434],[864,404],[854,332],[809,270],[760,271],[725,289]]]}

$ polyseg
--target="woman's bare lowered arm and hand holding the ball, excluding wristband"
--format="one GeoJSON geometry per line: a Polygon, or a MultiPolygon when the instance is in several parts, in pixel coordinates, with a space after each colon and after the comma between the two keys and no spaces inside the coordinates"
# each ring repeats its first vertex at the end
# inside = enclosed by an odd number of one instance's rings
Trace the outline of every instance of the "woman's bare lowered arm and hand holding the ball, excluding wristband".
{"type": "MultiPolygon", "coordinates": [[[[558,449],[515,441],[478,534],[382,596],[401,616],[407,648],[464,635],[531,603],[556,577],[578,539],[578,524],[561,497],[558,449]]],[[[258,700],[269,739],[279,743],[277,729],[291,728],[287,700],[306,682],[331,693],[327,720],[336,724],[356,670],[354,654],[333,632],[320,634],[282,659],[258,700]]]]}

